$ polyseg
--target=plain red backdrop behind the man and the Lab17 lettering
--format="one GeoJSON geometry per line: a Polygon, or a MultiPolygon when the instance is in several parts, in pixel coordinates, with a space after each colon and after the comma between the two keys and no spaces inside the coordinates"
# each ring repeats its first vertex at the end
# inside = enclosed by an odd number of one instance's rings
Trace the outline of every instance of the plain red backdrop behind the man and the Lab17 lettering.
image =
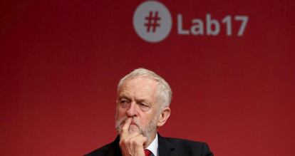
{"type": "MultiPolygon", "coordinates": [[[[171,85],[160,133],[215,155],[292,155],[294,1],[162,1],[160,43],[133,28],[142,1],[1,1],[0,155],[83,155],[115,138],[118,80],[148,68],[171,85]],[[249,16],[242,37],[177,35],[176,16],[249,16]]],[[[224,26],[224,25],[223,25],[224,26]]]]}

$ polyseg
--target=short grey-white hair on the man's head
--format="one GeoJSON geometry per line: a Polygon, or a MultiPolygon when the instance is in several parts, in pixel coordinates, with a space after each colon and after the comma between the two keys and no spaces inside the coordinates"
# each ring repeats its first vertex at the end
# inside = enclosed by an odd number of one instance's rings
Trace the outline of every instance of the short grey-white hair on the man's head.
{"type": "Polygon", "coordinates": [[[172,90],[169,84],[161,76],[158,76],[156,73],[145,68],[135,69],[128,75],[124,76],[118,83],[117,90],[119,91],[120,87],[126,80],[137,77],[146,77],[157,81],[157,99],[160,100],[160,109],[162,110],[169,107],[172,99],[172,90]]]}

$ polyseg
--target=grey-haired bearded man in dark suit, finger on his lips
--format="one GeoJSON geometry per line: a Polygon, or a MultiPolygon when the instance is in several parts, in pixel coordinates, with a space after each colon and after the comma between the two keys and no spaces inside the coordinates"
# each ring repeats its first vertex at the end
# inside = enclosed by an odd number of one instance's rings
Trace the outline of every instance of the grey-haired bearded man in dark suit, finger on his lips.
{"type": "Polygon", "coordinates": [[[157,134],[170,116],[172,91],[168,83],[152,71],[138,68],[118,84],[114,142],[86,156],[213,156],[205,142],[194,142],[157,134]]]}

